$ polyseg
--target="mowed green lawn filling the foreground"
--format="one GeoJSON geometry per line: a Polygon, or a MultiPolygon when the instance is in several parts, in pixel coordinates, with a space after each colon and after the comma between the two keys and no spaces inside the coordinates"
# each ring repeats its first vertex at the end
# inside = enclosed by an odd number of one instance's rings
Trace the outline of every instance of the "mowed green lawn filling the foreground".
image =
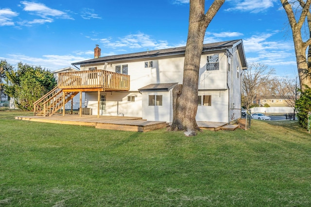
{"type": "Polygon", "coordinates": [[[0,112],[0,206],[310,207],[311,135],[294,121],[244,131],[146,133],[0,112]]]}

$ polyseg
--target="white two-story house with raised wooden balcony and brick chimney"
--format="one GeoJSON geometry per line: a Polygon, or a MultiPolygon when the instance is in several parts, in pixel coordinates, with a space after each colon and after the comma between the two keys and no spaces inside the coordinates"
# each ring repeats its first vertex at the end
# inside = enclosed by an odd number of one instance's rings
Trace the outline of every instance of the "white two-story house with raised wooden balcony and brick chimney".
{"type": "MultiPolygon", "coordinates": [[[[80,71],[59,73],[58,88],[63,91],[64,100],[77,92],[85,92],[85,100],[81,102],[92,109],[93,115],[124,115],[172,122],[172,90],[183,81],[185,49],[100,57],[101,49],[97,46],[94,59],[72,64],[80,71]]],[[[247,63],[242,40],[204,45],[197,121],[232,123],[241,117],[244,69],[247,63]]]]}

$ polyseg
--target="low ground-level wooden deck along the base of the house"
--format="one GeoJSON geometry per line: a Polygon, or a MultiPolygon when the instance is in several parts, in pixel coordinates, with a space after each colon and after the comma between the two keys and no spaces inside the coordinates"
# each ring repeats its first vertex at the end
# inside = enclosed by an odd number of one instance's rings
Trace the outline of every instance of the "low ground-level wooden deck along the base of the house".
{"type": "MultiPolygon", "coordinates": [[[[147,121],[141,117],[130,116],[100,116],[99,118],[94,115],[82,115],[66,114],[52,115],[52,116],[16,116],[17,120],[44,122],[54,124],[68,124],[68,125],[81,125],[91,126],[100,129],[112,129],[121,131],[138,131],[147,132],[159,128],[168,127],[166,122],[147,121]]],[[[197,122],[201,129],[207,129],[212,131],[234,130],[238,126],[227,125],[225,122],[197,122]]]]}

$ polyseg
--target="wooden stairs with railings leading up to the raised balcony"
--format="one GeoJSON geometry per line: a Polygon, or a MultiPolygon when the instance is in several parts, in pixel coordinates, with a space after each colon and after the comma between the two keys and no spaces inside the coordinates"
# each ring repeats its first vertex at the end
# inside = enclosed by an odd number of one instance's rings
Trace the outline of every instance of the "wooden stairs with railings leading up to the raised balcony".
{"type": "Polygon", "coordinates": [[[62,89],[55,87],[34,103],[34,115],[52,116],[78,93],[79,92],[63,92],[62,89]]]}

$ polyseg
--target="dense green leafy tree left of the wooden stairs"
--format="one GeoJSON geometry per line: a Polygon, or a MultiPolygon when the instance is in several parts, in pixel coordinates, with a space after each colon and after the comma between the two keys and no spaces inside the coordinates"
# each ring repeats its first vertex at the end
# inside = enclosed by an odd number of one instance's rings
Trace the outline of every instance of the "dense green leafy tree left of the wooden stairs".
{"type": "Polygon", "coordinates": [[[38,66],[18,63],[6,71],[5,93],[14,98],[15,105],[21,110],[32,111],[34,102],[56,86],[53,74],[38,66]]]}

